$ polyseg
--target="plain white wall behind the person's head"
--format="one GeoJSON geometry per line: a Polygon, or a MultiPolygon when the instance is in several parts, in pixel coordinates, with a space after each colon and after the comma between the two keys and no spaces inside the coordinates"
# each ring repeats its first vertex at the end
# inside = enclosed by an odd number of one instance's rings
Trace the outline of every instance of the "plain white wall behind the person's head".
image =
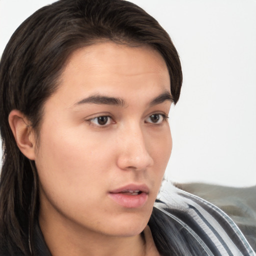
{"type": "MultiPolygon", "coordinates": [[[[256,184],[256,0],[132,0],[170,34],[183,87],[170,111],[167,177],[256,184]]],[[[15,28],[51,0],[0,0],[0,54],[15,28]]]]}

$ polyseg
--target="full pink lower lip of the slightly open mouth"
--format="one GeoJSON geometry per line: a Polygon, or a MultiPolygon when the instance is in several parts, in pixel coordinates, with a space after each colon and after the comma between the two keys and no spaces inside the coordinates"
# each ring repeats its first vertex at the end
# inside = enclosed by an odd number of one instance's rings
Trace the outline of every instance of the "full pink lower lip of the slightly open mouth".
{"type": "Polygon", "coordinates": [[[147,193],[142,192],[136,195],[128,195],[123,193],[109,193],[109,196],[119,205],[126,208],[142,207],[147,200],[147,193]]]}

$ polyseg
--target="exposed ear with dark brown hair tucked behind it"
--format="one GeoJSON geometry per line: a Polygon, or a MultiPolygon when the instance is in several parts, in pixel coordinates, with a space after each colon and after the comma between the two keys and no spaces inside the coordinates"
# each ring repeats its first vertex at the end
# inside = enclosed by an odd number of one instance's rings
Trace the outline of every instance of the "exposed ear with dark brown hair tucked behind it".
{"type": "Polygon", "coordinates": [[[9,113],[9,125],[19,150],[30,160],[35,159],[35,138],[30,122],[19,110],[9,113]]]}

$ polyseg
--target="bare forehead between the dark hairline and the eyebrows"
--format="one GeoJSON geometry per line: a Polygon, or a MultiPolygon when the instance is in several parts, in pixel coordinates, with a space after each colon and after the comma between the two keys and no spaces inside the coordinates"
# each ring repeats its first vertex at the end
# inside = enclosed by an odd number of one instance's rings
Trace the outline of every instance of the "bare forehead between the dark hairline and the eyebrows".
{"type": "MultiPolygon", "coordinates": [[[[97,92],[111,96],[144,95],[170,91],[166,63],[148,45],[131,47],[111,42],[97,43],[74,51],[59,79],[60,92],[70,101],[97,92]]],[[[149,96],[149,95],[148,95],[149,96]]],[[[152,97],[155,95],[152,95],[152,97]]]]}

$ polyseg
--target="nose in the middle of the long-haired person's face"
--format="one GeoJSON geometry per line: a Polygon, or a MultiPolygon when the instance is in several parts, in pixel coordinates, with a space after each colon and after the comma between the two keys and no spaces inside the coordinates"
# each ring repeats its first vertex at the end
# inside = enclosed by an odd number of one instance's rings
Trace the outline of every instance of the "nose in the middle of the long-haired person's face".
{"type": "Polygon", "coordinates": [[[117,165],[121,169],[144,170],[153,165],[149,139],[140,125],[129,125],[120,134],[117,165]]]}

